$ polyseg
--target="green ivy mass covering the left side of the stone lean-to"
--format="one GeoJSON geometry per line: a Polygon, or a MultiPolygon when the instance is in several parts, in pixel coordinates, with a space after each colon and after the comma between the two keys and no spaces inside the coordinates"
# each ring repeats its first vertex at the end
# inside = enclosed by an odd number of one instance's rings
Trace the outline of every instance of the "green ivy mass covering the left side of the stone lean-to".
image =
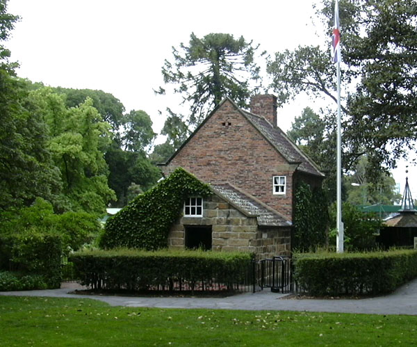
{"type": "Polygon", "coordinates": [[[211,188],[182,168],[151,190],[138,195],[106,223],[101,248],[140,248],[157,250],[167,247],[172,224],[181,216],[187,197],[211,195],[211,188]]]}

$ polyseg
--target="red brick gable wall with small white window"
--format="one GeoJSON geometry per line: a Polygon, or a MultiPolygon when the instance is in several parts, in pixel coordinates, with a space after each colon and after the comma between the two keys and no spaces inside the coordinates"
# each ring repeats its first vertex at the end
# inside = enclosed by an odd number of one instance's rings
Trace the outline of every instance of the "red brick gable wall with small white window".
{"type": "Polygon", "coordinates": [[[294,169],[229,101],[206,120],[165,172],[177,166],[208,183],[229,182],[292,220],[294,169]],[[286,195],[272,194],[272,177],[277,175],[287,177],[286,195]]]}

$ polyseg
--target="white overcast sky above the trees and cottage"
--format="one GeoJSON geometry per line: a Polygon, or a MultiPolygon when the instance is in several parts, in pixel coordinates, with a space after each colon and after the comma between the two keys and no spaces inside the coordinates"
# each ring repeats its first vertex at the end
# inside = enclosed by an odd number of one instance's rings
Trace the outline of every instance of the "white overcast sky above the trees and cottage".
{"type": "MultiPolygon", "coordinates": [[[[153,92],[163,86],[161,67],[165,58],[171,59],[172,46],[188,43],[192,32],[197,37],[243,35],[271,55],[298,45],[319,45],[318,35],[324,31],[313,26],[313,2],[9,0],[8,12],[22,19],[6,46],[20,63],[19,76],[48,86],[110,92],[126,111],[146,111],[158,133],[165,121],[158,110],[169,106],[176,111],[179,103],[178,97],[153,92]]],[[[314,104],[300,97],[279,110],[279,127],[288,130],[305,106],[314,104]]],[[[404,171],[394,172],[401,193],[404,171]]],[[[414,181],[417,191],[416,172],[409,168],[412,191],[414,181]]]]}

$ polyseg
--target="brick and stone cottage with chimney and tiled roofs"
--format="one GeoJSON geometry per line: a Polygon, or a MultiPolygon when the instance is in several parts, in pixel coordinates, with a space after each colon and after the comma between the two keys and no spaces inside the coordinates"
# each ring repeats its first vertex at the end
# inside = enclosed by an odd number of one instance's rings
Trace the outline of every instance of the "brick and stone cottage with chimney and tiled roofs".
{"type": "Polygon", "coordinates": [[[250,112],[222,102],[163,164],[211,184],[208,199],[190,197],[172,226],[172,248],[290,255],[294,187],[320,186],[324,175],[277,127],[277,98],[256,95],[250,112]]]}

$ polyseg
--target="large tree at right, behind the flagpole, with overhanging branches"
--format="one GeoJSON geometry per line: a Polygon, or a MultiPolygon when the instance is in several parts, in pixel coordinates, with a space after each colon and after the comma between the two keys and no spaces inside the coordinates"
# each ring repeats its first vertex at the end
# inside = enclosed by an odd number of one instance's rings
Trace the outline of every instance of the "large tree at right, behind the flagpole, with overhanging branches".
{"type": "MultiPolygon", "coordinates": [[[[323,0],[318,15],[329,28],[334,1],[323,0]]],[[[417,7],[413,0],[341,0],[345,168],[368,156],[368,177],[394,167],[414,150],[417,137],[417,7]]],[[[330,35],[329,35],[330,37],[330,35]]],[[[281,103],[299,92],[336,100],[335,66],[326,47],[298,47],[268,62],[272,88],[281,103]],[[283,92],[284,90],[284,92],[283,92]]]]}

